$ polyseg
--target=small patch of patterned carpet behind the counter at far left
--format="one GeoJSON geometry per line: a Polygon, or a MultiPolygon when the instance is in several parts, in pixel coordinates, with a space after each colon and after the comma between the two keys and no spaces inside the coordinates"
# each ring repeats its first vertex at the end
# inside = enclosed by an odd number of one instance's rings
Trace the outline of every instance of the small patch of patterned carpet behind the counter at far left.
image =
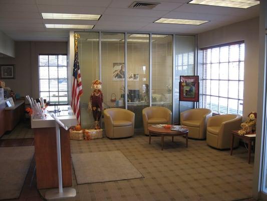
{"type": "Polygon", "coordinates": [[[26,120],[18,124],[11,132],[7,132],[1,140],[34,138],[34,131],[31,129],[30,121],[26,120]]]}

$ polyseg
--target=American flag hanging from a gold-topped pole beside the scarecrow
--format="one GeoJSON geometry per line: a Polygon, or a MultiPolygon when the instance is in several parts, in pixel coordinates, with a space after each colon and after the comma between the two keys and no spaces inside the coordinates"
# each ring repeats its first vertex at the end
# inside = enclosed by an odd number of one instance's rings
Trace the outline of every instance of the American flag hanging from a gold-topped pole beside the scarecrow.
{"type": "Polygon", "coordinates": [[[73,64],[73,85],[72,85],[72,110],[76,115],[78,124],[81,124],[80,118],[80,96],[83,94],[82,78],[78,59],[78,42],[75,40],[75,58],[73,64]]]}

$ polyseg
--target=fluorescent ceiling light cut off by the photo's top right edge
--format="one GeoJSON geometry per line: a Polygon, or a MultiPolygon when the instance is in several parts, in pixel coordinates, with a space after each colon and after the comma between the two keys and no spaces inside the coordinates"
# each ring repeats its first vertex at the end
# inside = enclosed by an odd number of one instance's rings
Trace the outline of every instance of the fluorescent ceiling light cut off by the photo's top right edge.
{"type": "Polygon", "coordinates": [[[249,7],[259,4],[256,0],[192,0],[188,4],[200,4],[208,6],[220,6],[220,7],[231,7],[239,9],[247,9],[249,7]]]}

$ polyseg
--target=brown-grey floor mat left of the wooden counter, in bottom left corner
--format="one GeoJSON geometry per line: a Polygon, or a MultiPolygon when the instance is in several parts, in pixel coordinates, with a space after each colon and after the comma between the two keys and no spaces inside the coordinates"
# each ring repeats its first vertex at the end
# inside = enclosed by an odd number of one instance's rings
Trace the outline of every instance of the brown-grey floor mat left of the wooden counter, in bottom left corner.
{"type": "Polygon", "coordinates": [[[0,199],[19,198],[34,146],[0,147],[0,199]]]}

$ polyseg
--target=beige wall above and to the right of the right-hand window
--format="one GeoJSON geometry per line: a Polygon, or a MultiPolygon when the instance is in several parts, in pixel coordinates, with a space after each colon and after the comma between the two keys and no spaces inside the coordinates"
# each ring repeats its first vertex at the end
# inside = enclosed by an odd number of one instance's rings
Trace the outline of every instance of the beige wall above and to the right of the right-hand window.
{"type": "Polygon", "coordinates": [[[198,34],[198,48],[244,40],[244,119],[257,111],[258,26],[259,19],[254,18],[198,34]]]}

